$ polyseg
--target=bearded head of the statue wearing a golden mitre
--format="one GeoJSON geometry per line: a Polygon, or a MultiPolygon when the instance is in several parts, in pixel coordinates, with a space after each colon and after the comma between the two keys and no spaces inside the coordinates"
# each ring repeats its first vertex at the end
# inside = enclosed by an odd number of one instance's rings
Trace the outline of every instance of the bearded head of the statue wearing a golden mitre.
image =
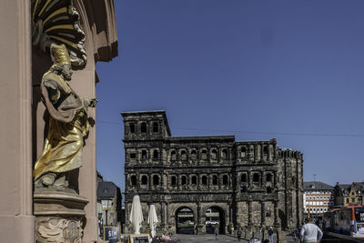
{"type": "Polygon", "coordinates": [[[53,69],[60,72],[66,80],[71,80],[71,59],[69,58],[66,46],[64,44],[56,45],[52,43],[51,56],[54,63],[53,69]]]}

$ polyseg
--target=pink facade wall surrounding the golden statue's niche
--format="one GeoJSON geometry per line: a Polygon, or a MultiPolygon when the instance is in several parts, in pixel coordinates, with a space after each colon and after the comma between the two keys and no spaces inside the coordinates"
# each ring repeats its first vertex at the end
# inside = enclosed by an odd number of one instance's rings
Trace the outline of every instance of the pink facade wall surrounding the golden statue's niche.
{"type": "MultiPolygon", "coordinates": [[[[86,34],[87,64],[74,70],[70,86],[96,96],[96,61],[117,56],[113,0],[74,0],[86,34]]],[[[35,242],[33,178],[45,139],[45,106],[39,83],[52,65],[49,53],[31,46],[30,1],[5,0],[0,8],[0,234],[3,242],[35,242]]],[[[97,80],[98,81],[98,80],[97,80]]],[[[96,109],[89,109],[96,119],[96,109]]],[[[96,242],[96,127],[91,127],[79,173],[80,196],[89,201],[83,242],[96,242]]]]}

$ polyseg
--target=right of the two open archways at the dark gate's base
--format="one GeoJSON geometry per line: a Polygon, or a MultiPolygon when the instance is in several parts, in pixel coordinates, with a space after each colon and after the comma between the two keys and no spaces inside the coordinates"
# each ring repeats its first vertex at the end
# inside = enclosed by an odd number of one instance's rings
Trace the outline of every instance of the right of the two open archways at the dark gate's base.
{"type": "Polygon", "coordinates": [[[218,207],[207,208],[205,216],[207,234],[214,234],[215,228],[218,228],[219,234],[225,234],[225,214],[223,209],[218,207]]]}

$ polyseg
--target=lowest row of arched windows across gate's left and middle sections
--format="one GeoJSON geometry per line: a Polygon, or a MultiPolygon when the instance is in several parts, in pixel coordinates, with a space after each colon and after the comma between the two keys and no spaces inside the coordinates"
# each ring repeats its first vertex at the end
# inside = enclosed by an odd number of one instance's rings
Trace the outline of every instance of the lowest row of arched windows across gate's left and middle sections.
{"type": "MultiPolygon", "coordinates": [[[[151,177],[147,175],[142,175],[139,177],[139,181],[136,175],[129,176],[130,181],[129,185],[131,187],[140,187],[142,189],[148,189],[150,187],[159,187],[161,186],[161,178],[160,175],[152,175],[151,177]],[[150,181],[149,181],[150,179],[150,181]]],[[[230,177],[228,175],[170,175],[168,177],[168,186],[172,188],[176,187],[210,187],[210,186],[218,186],[218,187],[229,187],[230,186],[230,177]]]]}

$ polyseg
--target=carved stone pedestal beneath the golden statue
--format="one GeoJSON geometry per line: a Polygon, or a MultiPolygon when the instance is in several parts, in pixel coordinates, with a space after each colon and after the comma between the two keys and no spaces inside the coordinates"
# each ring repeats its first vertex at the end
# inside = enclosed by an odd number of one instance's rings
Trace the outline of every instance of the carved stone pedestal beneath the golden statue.
{"type": "Polygon", "coordinates": [[[34,194],[37,243],[81,243],[88,200],[75,193],[41,191],[34,194]]]}

